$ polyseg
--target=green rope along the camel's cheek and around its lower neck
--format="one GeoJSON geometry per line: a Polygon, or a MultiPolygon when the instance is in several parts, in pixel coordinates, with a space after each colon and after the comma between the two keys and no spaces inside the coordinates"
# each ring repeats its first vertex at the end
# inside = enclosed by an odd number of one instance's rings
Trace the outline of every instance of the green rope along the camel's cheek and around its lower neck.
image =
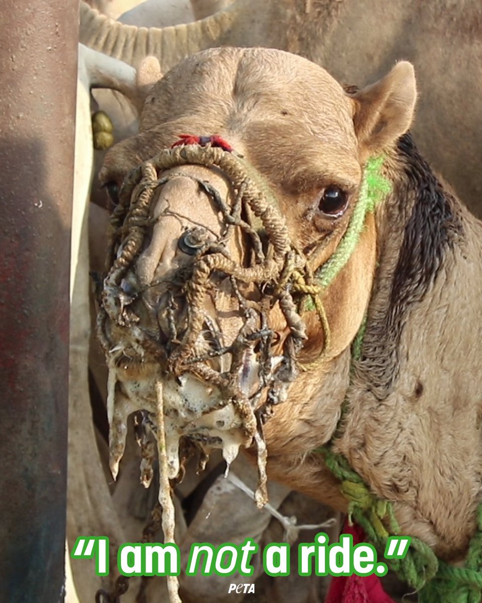
{"type": "MultiPolygon", "coordinates": [[[[367,213],[391,190],[391,184],[381,174],[384,157],[368,160],[363,174],[360,195],[352,213],[348,229],[337,250],[315,273],[316,284],[327,287],[348,262],[360,233],[365,226],[367,213]]],[[[361,357],[361,346],[366,330],[366,317],[352,343],[352,362],[361,357]]],[[[343,402],[335,434],[345,417],[347,400],[343,402]]],[[[369,541],[379,551],[385,551],[390,535],[399,534],[399,525],[393,513],[393,503],[375,496],[363,478],[331,446],[314,450],[324,455],[325,464],[340,481],[340,490],[348,499],[348,520],[363,528],[369,541]]],[[[386,559],[387,565],[398,577],[419,592],[420,603],[482,603],[482,503],[477,508],[477,531],[471,538],[465,567],[452,567],[440,561],[430,546],[412,537],[410,548],[403,559],[386,559]]]]}

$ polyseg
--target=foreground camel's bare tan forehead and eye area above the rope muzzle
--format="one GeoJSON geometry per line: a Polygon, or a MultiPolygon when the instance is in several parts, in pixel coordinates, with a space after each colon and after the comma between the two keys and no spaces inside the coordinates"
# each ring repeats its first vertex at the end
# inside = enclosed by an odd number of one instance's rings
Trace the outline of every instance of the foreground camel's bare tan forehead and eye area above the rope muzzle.
{"type": "MultiPolygon", "coordinates": [[[[337,231],[341,236],[346,227],[360,185],[354,112],[354,101],[324,69],[295,55],[238,49],[202,52],[154,86],[142,112],[140,134],[108,154],[102,179],[120,185],[130,169],[171,147],[181,133],[219,134],[272,189],[301,250],[312,253],[333,239],[316,259],[321,264],[339,239],[329,235],[337,231]]],[[[204,177],[214,182],[216,174],[204,177]]],[[[189,208],[183,195],[175,197],[171,204],[189,208]]],[[[196,221],[207,220],[212,227],[216,218],[207,216],[209,205],[195,206],[196,221]]],[[[167,244],[168,238],[178,238],[184,225],[172,216],[163,218],[164,223],[159,230],[167,244]]],[[[174,251],[164,249],[164,268],[171,260],[174,251]]]]}

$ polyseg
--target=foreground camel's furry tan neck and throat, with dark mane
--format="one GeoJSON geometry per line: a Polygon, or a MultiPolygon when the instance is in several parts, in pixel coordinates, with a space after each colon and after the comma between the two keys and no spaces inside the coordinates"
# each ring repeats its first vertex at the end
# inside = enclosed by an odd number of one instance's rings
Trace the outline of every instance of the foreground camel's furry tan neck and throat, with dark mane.
{"type": "Polygon", "coordinates": [[[268,441],[272,473],[342,507],[321,455],[308,452],[333,434],[346,396],[336,449],[375,494],[395,502],[402,534],[456,559],[475,529],[481,490],[482,226],[410,137],[387,160],[387,174],[393,192],[377,213],[379,265],[361,360],[351,385],[348,350],[318,391],[313,377],[296,382],[299,399],[283,409],[290,435],[280,440],[278,423],[268,441]],[[307,456],[296,467],[300,449],[307,456]]]}

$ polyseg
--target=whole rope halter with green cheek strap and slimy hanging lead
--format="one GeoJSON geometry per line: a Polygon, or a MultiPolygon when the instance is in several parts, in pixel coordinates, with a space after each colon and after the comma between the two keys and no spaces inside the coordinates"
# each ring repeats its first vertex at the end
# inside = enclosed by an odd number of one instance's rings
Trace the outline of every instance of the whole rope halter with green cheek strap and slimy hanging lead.
{"type": "MultiPolygon", "coordinates": [[[[377,186],[370,179],[372,172],[378,174],[383,159],[369,162],[346,235],[327,264],[313,275],[307,257],[290,241],[286,223],[269,187],[242,157],[231,153],[231,148],[227,148],[224,141],[221,142],[221,146],[218,142],[204,146],[204,143],[198,145],[180,141],[174,148],[164,150],[143,163],[126,178],[119,206],[111,219],[108,274],[104,280],[98,315],[98,337],[110,367],[116,367],[127,352],[120,349],[122,346],[116,346],[116,341],[111,341],[109,323],[116,325],[117,335],[123,330],[129,333],[131,339],[136,341],[137,350],[142,350],[143,361],[157,363],[160,374],[181,376],[190,373],[219,388],[221,399],[205,408],[204,414],[233,406],[242,425],[246,446],[254,441],[257,447],[258,486],[255,500],[258,507],[262,507],[268,500],[263,423],[272,414],[272,407],[286,399],[287,388],[295,380],[298,371],[312,370],[324,361],[330,347],[330,329],[322,294],[348,261],[363,229],[366,213],[374,210],[375,203],[387,192],[387,186],[379,176],[375,183],[377,186]],[[192,175],[181,171],[163,174],[168,169],[188,164],[221,171],[230,183],[231,203],[224,201],[209,183],[192,175]],[[155,326],[155,321],[146,326],[136,314],[134,301],[142,295],[143,289],[134,287],[133,290],[132,280],[129,284],[125,277],[129,272],[135,272],[134,264],[148,242],[149,229],[158,219],[152,217],[152,206],[158,190],[172,178],[180,176],[188,176],[198,183],[222,216],[223,227],[214,241],[205,236],[205,228],[201,225],[190,229],[187,233],[189,238],[180,239],[180,247],[181,244],[186,245],[187,253],[193,254],[193,262],[189,270],[183,268],[169,275],[169,286],[164,292],[169,333],[167,341],[161,341],[160,329],[158,325],[155,326]],[[248,250],[241,258],[231,257],[229,251],[235,233],[243,241],[243,249],[248,250]],[[237,311],[242,318],[242,326],[229,345],[224,343],[221,329],[204,309],[205,301],[219,286],[221,279],[224,282],[229,280],[231,301],[236,300],[237,311]],[[279,309],[286,322],[283,333],[276,332],[270,324],[269,317],[275,308],[279,309]],[[308,365],[303,365],[298,358],[306,339],[301,317],[304,309],[318,312],[324,335],[319,358],[308,365]],[[204,346],[199,346],[201,333],[204,346]],[[209,335],[207,347],[206,333],[209,335]],[[246,355],[254,353],[258,356],[258,387],[254,393],[246,393],[240,387],[239,375],[246,355]],[[226,356],[230,358],[228,370],[216,370],[210,361],[226,356]],[[276,362],[275,358],[278,359],[276,362]]],[[[162,215],[186,218],[172,212],[169,207],[162,215]]],[[[193,223],[192,219],[190,221],[193,223]]],[[[148,286],[155,287],[157,284],[150,283],[148,286]]],[[[111,373],[108,414],[112,434],[113,408],[109,409],[109,406],[116,403],[116,373],[111,373]]],[[[151,431],[158,441],[161,477],[159,500],[166,514],[163,529],[167,541],[172,540],[174,535],[174,519],[172,503],[166,502],[171,490],[166,443],[157,433],[158,428],[163,428],[162,419],[166,412],[163,408],[161,377],[156,392],[155,412],[139,407],[136,438],[143,457],[141,481],[146,486],[151,483],[154,461],[154,449],[148,432],[151,431]]],[[[201,448],[203,466],[207,460],[206,447],[202,442],[196,443],[201,448]]],[[[171,582],[171,600],[177,601],[177,578],[171,576],[171,582]]]]}

